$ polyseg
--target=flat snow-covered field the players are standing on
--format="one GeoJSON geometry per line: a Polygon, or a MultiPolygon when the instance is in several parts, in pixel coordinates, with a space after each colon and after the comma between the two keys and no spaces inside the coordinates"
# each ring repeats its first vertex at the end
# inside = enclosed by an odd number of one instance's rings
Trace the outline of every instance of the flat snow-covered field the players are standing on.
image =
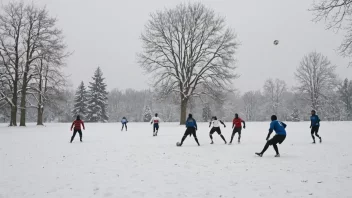
{"type": "MultiPolygon", "coordinates": [[[[206,123],[176,147],[184,127],[87,124],[84,143],[69,144],[70,124],[0,125],[0,198],[24,197],[352,197],[352,122],[323,122],[322,144],[311,144],[309,123],[288,123],[281,158],[265,143],[268,122],[247,123],[242,143],[224,145],[206,123]]],[[[228,124],[230,126],[230,124],[228,124]]],[[[230,127],[223,130],[226,139],[230,127]]],[[[77,134],[78,135],[78,134],[77,134]]],[[[237,139],[237,136],[235,137],[237,139]]]]}

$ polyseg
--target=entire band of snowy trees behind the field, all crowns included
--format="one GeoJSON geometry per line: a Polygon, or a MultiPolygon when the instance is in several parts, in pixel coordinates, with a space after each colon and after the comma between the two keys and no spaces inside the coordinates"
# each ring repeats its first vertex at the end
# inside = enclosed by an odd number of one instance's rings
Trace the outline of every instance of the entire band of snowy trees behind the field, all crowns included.
{"type": "MultiPolygon", "coordinates": [[[[352,28],[352,1],[316,1],[316,20],[327,19],[329,28],[352,28]]],[[[348,31],[340,46],[352,53],[348,31]]],[[[276,114],[281,120],[300,121],[315,109],[325,120],[351,120],[352,82],[340,80],[323,54],[312,52],[299,62],[296,86],[284,79],[268,79],[263,88],[240,94],[231,84],[238,47],[235,32],[225,18],[201,3],[180,4],[151,14],[141,35],[141,67],[151,74],[154,90],[106,91],[98,68],[87,91],[67,90],[61,72],[68,57],[62,31],[45,8],[9,3],[0,12],[0,114],[25,126],[26,116],[37,123],[70,121],[149,121],[159,113],[164,121],[185,122],[187,112],[198,120],[212,115],[230,121],[239,113],[247,121],[264,121],[276,114]],[[44,110],[44,107],[45,110],[44,110]],[[46,112],[43,116],[43,112],[46,112]],[[110,115],[110,119],[109,116],[110,115]]]]}

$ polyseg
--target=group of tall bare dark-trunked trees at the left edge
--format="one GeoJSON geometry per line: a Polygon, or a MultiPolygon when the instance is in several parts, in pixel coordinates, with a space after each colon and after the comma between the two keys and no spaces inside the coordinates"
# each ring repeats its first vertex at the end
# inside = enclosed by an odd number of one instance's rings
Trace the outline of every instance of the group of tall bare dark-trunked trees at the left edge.
{"type": "Polygon", "coordinates": [[[10,2],[0,8],[0,110],[10,125],[26,125],[30,109],[43,124],[45,107],[60,100],[69,56],[57,20],[45,7],[10,2]],[[6,116],[4,116],[6,117],[6,116]]]}

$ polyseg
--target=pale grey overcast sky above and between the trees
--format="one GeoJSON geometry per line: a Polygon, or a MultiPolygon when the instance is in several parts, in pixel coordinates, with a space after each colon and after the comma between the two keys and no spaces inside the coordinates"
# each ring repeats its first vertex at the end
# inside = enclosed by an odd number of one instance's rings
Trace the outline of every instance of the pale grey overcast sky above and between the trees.
{"type": "MultiPolygon", "coordinates": [[[[0,0],[6,3],[8,0],[0,0]]],[[[25,2],[27,0],[24,0],[25,2]]],[[[32,0],[31,0],[32,1],[32,0]]],[[[31,2],[28,0],[28,2],[31,2]]],[[[172,8],[180,0],[34,0],[46,5],[59,19],[66,42],[74,54],[69,58],[66,74],[77,87],[88,83],[100,66],[108,89],[147,89],[148,76],[136,59],[141,52],[139,37],[149,14],[165,7],[172,8]]],[[[295,84],[294,72],[302,57],[317,51],[338,66],[341,78],[352,79],[348,59],[335,49],[343,38],[325,30],[323,23],[312,22],[308,11],[313,0],[203,0],[233,28],[242,43],[236,55],[241,77],[234,81],[240,91],[261,89],[267,78],[295,84]],[[277,39],[280,44],[275,46],[277,39]]]]}

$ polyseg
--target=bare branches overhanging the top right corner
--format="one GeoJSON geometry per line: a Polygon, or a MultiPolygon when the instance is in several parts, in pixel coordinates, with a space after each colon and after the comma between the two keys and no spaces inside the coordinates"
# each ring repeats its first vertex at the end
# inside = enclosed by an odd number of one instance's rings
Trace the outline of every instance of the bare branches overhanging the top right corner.
{"type": "MultiPolygon", "coordinates": [[[[338,51],[343,57],[352,55],[352,0],[317,0],[311,11],[315,14],[315,21],[324,20],[328,29],[346,30],[345,37],[338,51]]],[[[352,65],[352,62],[349,63],[352,65]]]]}

